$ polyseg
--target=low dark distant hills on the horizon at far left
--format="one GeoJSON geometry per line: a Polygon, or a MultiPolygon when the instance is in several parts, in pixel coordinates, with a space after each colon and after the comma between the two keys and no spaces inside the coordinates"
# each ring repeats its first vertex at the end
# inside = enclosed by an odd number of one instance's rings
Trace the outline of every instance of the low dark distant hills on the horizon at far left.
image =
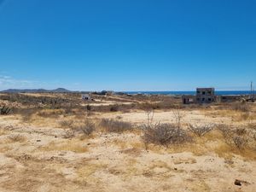
{"type": "Polygon", "coordinates": [[[16,90],[16,89],[9,89],[9,90],[2,90],[2,93],[68,93],[73,92],[71,90],[66,90],[64,88],[58,88],[55,90],[44,90],[44,89],[32,89],[32,90],[16,90]]]}

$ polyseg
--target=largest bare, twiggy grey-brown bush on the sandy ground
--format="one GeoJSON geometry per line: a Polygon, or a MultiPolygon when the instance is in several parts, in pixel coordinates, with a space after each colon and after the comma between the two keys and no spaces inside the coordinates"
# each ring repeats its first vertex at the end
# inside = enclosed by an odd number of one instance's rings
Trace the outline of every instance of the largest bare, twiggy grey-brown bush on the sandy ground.
{"type": "Polygon", "coordinates": [[[168,146],[191,141],[191,137],[183,129],[171,124],[155,124],[144,126],[144,143],[154,143],[168,146]]]}

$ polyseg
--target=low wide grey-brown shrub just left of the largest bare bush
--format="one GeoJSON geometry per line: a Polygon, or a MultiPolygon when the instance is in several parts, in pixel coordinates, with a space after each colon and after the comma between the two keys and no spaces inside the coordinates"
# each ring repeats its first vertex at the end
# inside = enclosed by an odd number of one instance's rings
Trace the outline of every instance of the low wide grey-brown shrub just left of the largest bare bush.
{"type": "Polygon", "coordinates": [[[131,123],[114,120],[114,119],[102,119],[101,126],[108,132],[123,132],[133,128],[131,123]]]}

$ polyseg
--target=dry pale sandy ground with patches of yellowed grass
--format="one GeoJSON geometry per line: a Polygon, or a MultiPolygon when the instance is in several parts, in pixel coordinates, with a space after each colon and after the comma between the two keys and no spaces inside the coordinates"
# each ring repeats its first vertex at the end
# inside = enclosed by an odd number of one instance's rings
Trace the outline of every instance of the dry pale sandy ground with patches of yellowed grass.
{"type": "MultiPolygon", "coordinates": [[[[183,125],[243,125],[228,116],[185,110],[183,125]]],[[[146,123],[147,113],[98,113],[91,118],[146,123]]],[[[145,148],[140,131],[96,131],[90,137],[67,137],[69,129],[45,119],[24,122],[19,115],[0,116],[0,191],[216,191],[256,189],[256,151],[221,151],[223,141],[212,132],[183,147],[145,148]],[[203,145],[203,147],[202,147],[203,145]],[[225,154],[227,153],[227,154],[225,154]],[[241,186],[235,180],[241,180],[241,186]]],[[[173,123],[172,110],[155,111],[154,122],[173,123]]]]}

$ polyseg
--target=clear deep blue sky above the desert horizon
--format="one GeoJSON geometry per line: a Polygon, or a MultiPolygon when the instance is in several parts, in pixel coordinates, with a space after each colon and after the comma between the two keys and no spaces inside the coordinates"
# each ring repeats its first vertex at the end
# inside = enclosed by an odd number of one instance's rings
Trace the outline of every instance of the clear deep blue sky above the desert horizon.
{"type": "Polygon", "coordinates": [[[256,0],[0,0],[0,90],[248,90],[256,0]]]}

